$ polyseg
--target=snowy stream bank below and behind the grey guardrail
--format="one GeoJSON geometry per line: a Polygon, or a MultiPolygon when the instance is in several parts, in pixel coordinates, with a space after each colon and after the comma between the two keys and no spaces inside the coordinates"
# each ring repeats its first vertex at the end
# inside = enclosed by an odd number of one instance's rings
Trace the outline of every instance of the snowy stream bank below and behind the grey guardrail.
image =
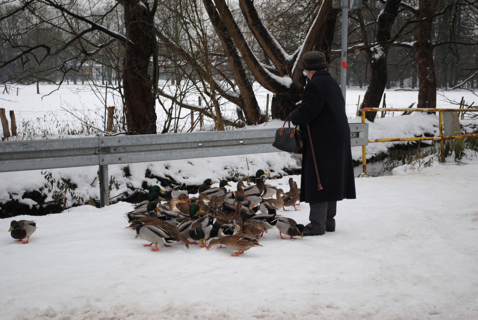
{"type": "MultiPolygon", "coordinates": [[[[350,123],[360,121],[360,117],[349,119],[350,123]]],[[[461,122],[464,126],[463,130],[471,132],[477,128],[478,120],[461,120],[461,122]]],[[[283,122],[280,120],[272,120],[262,125],[247,126],[243,129],[279,128],[282,124],[283,122]]],[[[413,113],[409,116],[379,118],[374,123],[369,123],[370,139],[420,136],[439,136],[437,115],[413,113]]],[[[394,144],[406,143],[406,141],[369,143],[367,158],[370,159],[386,152],[394,144]]],[[[359,161],[361,157],[362,149],[353,147],[352,158],[359,161]]],[[[114,184],[118,186],[118,189],[112,186],[110,199],[113,201],[122,199],[122,197],[133,194],[136,190],[144,189],[143,185],[145,184],[150,186],[160,184],[160,181],[155,178],[145,177],[147,170],[153,176],[172,177],[176,181],[186,182],[188,185],[199,185],[207,178],[220,181],[234,175],[251,176],[258,169],[272,173],[272,177],[277,177],[285,174],[284,169],[298,169],[298,167],[295,160],[292,160],[286,152],[110,165],[109,174],[114,177],[114,184]],[[130,175],[125,174],[125,167],[129,168],[130,175]]],[[[55,181],[69,179],[71,183],[76,185],[73,193],[69,193],[69,196],[66,194],[69,199],[68,205],[71,206],[78,203],[77,199],[80,199],[80,203],[87,203],[90,196],[93,199],[99,199],[97,171],[98,167],[93,166],[53,169],[45,172],[51,172],[55,181]]],[[[47,181],[44,175],[40,170],[0,173],[0,180],[4,181],[0,184],[0,207],[11,200],[18,200],[19,203],[26,204],[30,208],[35,206],[39,208],[39,206],[44,205],[43,203],[51,202],[56,189],[45,187],[47,181]],[[48,191],[49,189],[51,190],[48,191]],[[39,201],[38,197],[32,199],[30,195],[25,195],[25,192],[39,192],[37,194],[43,194],[43,200],[39,201]]],[[[163,188],[168,189],[165,185],[163,185],[163,188]]],[[[62,201],[58,203],[63,204],[62,201]]]]}

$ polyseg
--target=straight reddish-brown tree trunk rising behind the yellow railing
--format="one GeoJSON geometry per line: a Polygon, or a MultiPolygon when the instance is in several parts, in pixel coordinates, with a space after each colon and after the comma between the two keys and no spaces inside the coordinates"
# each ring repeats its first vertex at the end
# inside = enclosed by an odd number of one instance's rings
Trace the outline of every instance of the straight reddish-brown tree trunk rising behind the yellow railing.
{"type": "MultiPolygon", "coordinates": [[[[430,17],[435,12],[435,0],[420,0],[417,18],[430,17]]],[[[418,24],[413,46],[418,69],[418,108],[436,107],[436,76],[432,45],[433,19],[418,24]]]]}

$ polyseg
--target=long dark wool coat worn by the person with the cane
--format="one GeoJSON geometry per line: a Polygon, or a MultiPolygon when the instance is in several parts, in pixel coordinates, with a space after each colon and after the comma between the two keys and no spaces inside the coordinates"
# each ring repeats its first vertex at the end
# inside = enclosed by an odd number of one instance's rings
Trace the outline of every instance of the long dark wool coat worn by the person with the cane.
{"type": "Polygon", "coordinates": [[[291,112],[290,118],[294,125],[300,125],[304,138],[300,201],[317,203],[355,199],[350,127],[345,101],[340,86],[327,70],[315,72],[305,85],[302,104],[291,112]],[[317,190],[307,123],[320,182],[324,188],[321,191],[317,190]]]}

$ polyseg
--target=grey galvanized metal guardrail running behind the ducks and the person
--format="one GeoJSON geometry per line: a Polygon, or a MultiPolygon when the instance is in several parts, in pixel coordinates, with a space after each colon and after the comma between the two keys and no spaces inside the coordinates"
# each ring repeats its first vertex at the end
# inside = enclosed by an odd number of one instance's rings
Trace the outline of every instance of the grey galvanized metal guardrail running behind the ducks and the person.
{"type": "MultiPolygon", "coordinates": [[[[368,144],[368,124],[352,123],[352,146],[368,144]]],[[[277,128],[3,141],[0,172],[99,165],[100,205],[108,205],[108,165],[280,152],[277,128]]]]}

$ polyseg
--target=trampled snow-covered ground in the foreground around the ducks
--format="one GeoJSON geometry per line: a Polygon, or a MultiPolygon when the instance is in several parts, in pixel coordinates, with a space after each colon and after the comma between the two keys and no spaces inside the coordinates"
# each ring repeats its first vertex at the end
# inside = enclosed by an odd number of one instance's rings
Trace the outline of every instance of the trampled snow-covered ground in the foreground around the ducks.
{"type": "MultiPolygon", "coordinates": [[[[478,319],[478,159],[463,162],[358,178],[336,232],[281,240],[274,228],[239,257],[152,252],[124,229],[129,203],[35,217],[28,245],[2,219],[0,318],[478,319]]],[[[278,213],[307,223],[298,208],[278,213]]]]}

